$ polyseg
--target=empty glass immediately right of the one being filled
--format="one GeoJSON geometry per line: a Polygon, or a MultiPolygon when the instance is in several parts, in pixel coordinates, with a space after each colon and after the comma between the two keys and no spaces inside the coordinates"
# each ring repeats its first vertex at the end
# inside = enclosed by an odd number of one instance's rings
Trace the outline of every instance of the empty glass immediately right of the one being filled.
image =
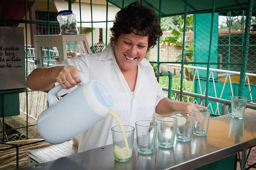
{"type": "Polygon", "coordinates": [[[157,122],[140,120],[135,123],[138,152],[151,154],[154,152],[157,122]]]}

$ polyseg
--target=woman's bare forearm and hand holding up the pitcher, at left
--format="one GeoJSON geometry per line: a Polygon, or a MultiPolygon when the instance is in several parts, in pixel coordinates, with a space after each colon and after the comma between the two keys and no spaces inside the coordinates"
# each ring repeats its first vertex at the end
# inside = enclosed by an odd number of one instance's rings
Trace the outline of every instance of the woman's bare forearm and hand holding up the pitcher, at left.
{"type": "Polygon", "coordinates": [[[70,89],[80,83],[78,72],[74,66],[37,68],[27,77],[26,86],[35,91],[49,91],[58,82],[63,89],[70,89]]]}

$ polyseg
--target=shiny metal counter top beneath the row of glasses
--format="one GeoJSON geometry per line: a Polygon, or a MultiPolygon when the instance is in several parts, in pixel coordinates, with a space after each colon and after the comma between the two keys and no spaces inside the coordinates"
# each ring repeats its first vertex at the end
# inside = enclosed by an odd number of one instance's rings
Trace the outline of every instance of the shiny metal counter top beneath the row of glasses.
{"type": "Polygon", "coordinates": [[[256,113],[246,113],[244,119],[231,115],[210,119],[207,136],[192,136],[190,142],[175,141],[172,148],[158,147],[154,153],[138,153],[136,140],[133,155],[127,162],[115,161],[112,145],[61,157],[21,168],[22,170],[131,170],[131,169],[193,169],[256,146],[256,113]]]}

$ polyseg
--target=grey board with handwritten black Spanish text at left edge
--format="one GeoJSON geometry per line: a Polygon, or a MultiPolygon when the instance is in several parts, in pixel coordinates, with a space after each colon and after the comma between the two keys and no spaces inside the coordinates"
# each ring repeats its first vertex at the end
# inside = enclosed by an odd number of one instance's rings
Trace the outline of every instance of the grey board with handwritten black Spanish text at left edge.
{"type": "Polygon", "coordinates": [[[24,29],[0,27],[0,37],[0,90],[24,88],[24,29]]]}

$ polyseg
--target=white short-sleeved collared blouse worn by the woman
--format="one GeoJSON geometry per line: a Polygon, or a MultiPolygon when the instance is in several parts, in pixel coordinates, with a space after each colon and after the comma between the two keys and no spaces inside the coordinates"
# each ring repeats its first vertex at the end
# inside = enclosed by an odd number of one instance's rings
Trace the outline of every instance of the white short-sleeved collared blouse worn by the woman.
{"type": "MultiPolygon", "coordinates": [[[[101,53],[68,58],[63,61],[62,65],[76,66],[90,80],[101,81],[107,86],[115,101],[114,110],[123,125],[135,127],[135,122],[138,120],[152,120],[158,102],[167,97],[162,91],[162,86],[157,82],[152,66],[145,58],[138,63],[136,86],[135,90],[131,92],[118,67],[113,47],[110,44],[101,53]]],[[[66,94],[74,88],[64,89],[58,95],[66,94]]],[[[112,144],[111,127],[115,125],[118,123],[111,115],[108,115],[81,133],[78,152],[112,144]]]]}

